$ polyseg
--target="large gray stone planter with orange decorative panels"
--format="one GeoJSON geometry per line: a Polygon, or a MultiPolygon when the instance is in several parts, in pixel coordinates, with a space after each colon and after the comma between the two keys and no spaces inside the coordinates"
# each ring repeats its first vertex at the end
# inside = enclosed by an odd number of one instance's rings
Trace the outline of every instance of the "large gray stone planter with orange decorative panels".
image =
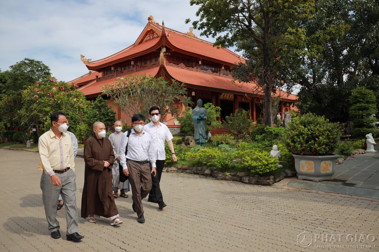
{"type": "Polygon", "coordinates": [[[299,179],[312,181],[333,180],[335,162],[340,155],[304,156],[292,154],[299,179]]]}

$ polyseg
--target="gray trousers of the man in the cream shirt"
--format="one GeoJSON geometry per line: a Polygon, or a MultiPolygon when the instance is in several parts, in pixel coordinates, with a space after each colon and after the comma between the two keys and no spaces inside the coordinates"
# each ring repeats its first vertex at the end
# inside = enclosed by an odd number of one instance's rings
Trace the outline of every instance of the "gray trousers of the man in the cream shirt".
{"type": "Polygon", "coordinates": [[[78,232],[78,210],[76,208],[76,183],[75,173],[68,170],[65,173],[56,173],[59,176],[62,185],[55,187],[51,182],[49,175],[42,171],[41,176],[41,189],[42,201],[44,202],[45,215],[48,229],[51,232],[59,230],[59,222],[56,219],[56,202],[58,202],[59,194],[62,195],[64,200],[64,209],[66,210],[67,219],[67,234],[78,232]]]}

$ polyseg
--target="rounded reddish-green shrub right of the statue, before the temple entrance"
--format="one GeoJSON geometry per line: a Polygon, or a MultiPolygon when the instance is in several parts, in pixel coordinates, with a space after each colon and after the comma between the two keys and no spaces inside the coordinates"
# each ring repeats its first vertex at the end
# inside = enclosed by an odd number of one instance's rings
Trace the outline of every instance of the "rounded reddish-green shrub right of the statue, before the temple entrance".
{"type": "Polygon", "coordinates": [[[233,134],[236,139],[249,140],[251,125],[250,112],[241,108],[237,109],[234,114],[225,117],[224,126],[228,128],[228,132],[233,134]]]}

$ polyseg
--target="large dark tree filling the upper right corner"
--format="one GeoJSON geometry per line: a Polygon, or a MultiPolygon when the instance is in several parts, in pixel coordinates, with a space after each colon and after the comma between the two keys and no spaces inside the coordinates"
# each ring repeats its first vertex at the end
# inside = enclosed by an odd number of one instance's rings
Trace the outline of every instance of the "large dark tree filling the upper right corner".
{"type": "Polygon", "coordinates": [[[349,120],[348,97],[357,86],[376,92],[379,109],[379,3],[366,0],[316,0],[315,15],[304,23],[308,33],[338,26],[338,39],[327,36],[322,57],[309,58],[309,71],[298,72],[299,108],[332,121],[349,120]]]}

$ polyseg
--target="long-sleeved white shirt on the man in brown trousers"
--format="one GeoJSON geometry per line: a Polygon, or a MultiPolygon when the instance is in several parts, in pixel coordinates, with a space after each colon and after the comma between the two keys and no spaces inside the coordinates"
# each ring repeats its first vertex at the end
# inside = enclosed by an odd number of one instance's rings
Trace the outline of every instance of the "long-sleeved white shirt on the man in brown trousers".
{"type": "Polygon", "coordinates": [[[127,137],[128,133],[125,132],[122,135],[120,144],[119,157],[123,170],[127,169],[126,159],[132,159],[135,161],[150,160],[152,167],[155,166],[155,148],[151,140],[150,134],[146,131],[142,131],[141,135],[137,135],[134,129],[127,137]],[[125,157],[125,148],[128,144],[128,154],[125,157]]]}

